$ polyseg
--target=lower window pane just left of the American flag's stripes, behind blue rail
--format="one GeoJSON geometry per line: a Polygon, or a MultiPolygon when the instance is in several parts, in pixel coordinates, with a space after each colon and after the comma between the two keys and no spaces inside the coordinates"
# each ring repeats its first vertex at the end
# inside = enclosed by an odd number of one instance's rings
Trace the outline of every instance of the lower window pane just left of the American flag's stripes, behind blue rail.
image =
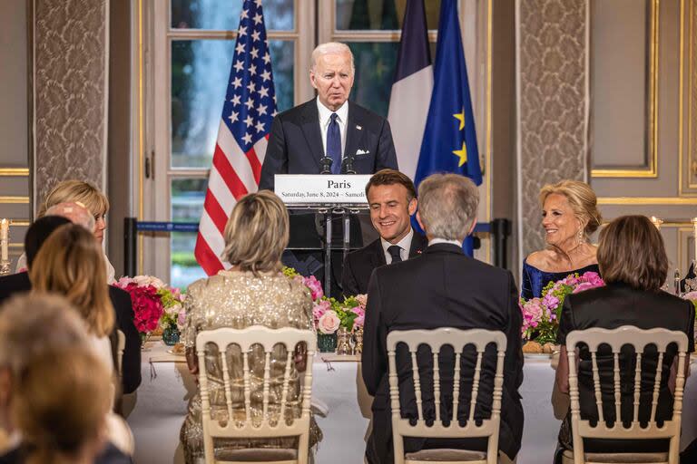
{"type": "MultiPolygon", "coordinates": [[[[207,187],[207,179],[172,179],[172,222],[199,222],[207,187]]],[[[171,285],[183,290],[206,273],[193,257],[196,234],[172,232],[171,237],[171,285]]]]}

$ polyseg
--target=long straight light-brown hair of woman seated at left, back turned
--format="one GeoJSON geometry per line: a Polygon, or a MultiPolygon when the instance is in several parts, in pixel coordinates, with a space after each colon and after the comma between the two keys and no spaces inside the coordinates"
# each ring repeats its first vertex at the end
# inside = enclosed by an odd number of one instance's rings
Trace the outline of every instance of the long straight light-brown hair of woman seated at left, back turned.
{"type": "Polygon", "coordinates": [[[44,241],[29,269],[34,292],[64,295],[98,337],[109,335],[113,305],[104,274],[102,248],[76,224],[58,227],[44,241]]]}

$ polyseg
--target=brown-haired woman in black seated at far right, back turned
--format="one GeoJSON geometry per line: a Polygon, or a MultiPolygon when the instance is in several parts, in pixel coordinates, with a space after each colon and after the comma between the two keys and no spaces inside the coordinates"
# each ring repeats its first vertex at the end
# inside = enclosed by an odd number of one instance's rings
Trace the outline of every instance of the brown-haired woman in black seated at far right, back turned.
{"type": "MultiPolygon", "coordinates": [[[[598,265],[603,273],[605,286],[593,288],[564,298],[557,343],[561,344],[559,365],[556,369],[556,387],[561,393],[569,391],[569,366],[566,358],[566,335],[574,330],[594,327],[615,329],[633,325],[640,329],[664,328],[681,331],[689,341],[688,353],[694,350],[694,306],[692,302],[661,290],[668,272],[668,256],[663,237],[648,218],[623,216],[616,218],[600,233],[598,265]]],[[[663,357],[661,390],[656,412],[657,420],[672,415],[672,388],[675,372],[671,372],[675,349],[670,348],[663,357]]],[[[688,354],[689,356],[689,354],[688,354]]],[[[633,379],[633,369],[627,364],[628,353],[620,354],[623,377],[633,379]],[[623,366],[627,367],[623,369],[623,366]]],[[[592,362],[587,349],[579,348],[578,390],[581,398],[581,418],[596,419],[592,362]]],[[[657,355],[644,353],[643,371],[655,372],[657,355]]],[[[689,359],[685,366],[689,366],[689,359]]],[[[597,365],[601,378],[613,377],[613,354],[601,346],[597,353],[597,365]]],[[[633,382],[633,381],[629,381],[633,382]]],[[[653,377],[646,381],[653,385],[653,377]]],[[[650,397],[653,388],[642,389],[650,397]]],[[[632,420],[633,391],[622,392],[621,419],[632,420]],[[626,417],[625,417],[626,415],[626,417]]],[[[613,391],[603,392],[605,420],[614,420],[613,391]]],[[[639,418],[648,417],[651,398],[642,398],[639,418]]],[[[567,413],[559,432],[561,450],[573,449],[567,413]]],[[[586,452],[665,452],[667,440],[584,440],[586,452]]],[[[561,462],[561,452],[557,462],[561,462]]]]}

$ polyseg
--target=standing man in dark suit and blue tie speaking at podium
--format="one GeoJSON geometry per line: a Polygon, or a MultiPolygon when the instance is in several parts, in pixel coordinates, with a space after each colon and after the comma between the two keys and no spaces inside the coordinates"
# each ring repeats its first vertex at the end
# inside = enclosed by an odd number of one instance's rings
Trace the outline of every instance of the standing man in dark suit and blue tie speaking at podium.
{"type": "Polygon", "coordinates": [[[312,52],[309,82],[317,98],[277,115],[261,167],[259,189],[273,189],[276,174],[373,174],[398,169],[388,121],[348,102],[355,68],[345,43],[322,43],[312,52]],[[323,159],[328,158],[331,160],[323,159]]]}

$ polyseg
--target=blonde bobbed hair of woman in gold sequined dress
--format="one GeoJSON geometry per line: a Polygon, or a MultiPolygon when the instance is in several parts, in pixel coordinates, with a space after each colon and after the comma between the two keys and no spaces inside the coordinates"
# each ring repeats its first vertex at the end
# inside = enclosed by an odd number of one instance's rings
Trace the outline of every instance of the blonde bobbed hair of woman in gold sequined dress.
{"type": "Polygon", "coordinates": [[[288,210],[270,190],[242,197],[225,225],[222,257],[238,270],[280,271],[280,256],[288,246],[288,210]]]}

